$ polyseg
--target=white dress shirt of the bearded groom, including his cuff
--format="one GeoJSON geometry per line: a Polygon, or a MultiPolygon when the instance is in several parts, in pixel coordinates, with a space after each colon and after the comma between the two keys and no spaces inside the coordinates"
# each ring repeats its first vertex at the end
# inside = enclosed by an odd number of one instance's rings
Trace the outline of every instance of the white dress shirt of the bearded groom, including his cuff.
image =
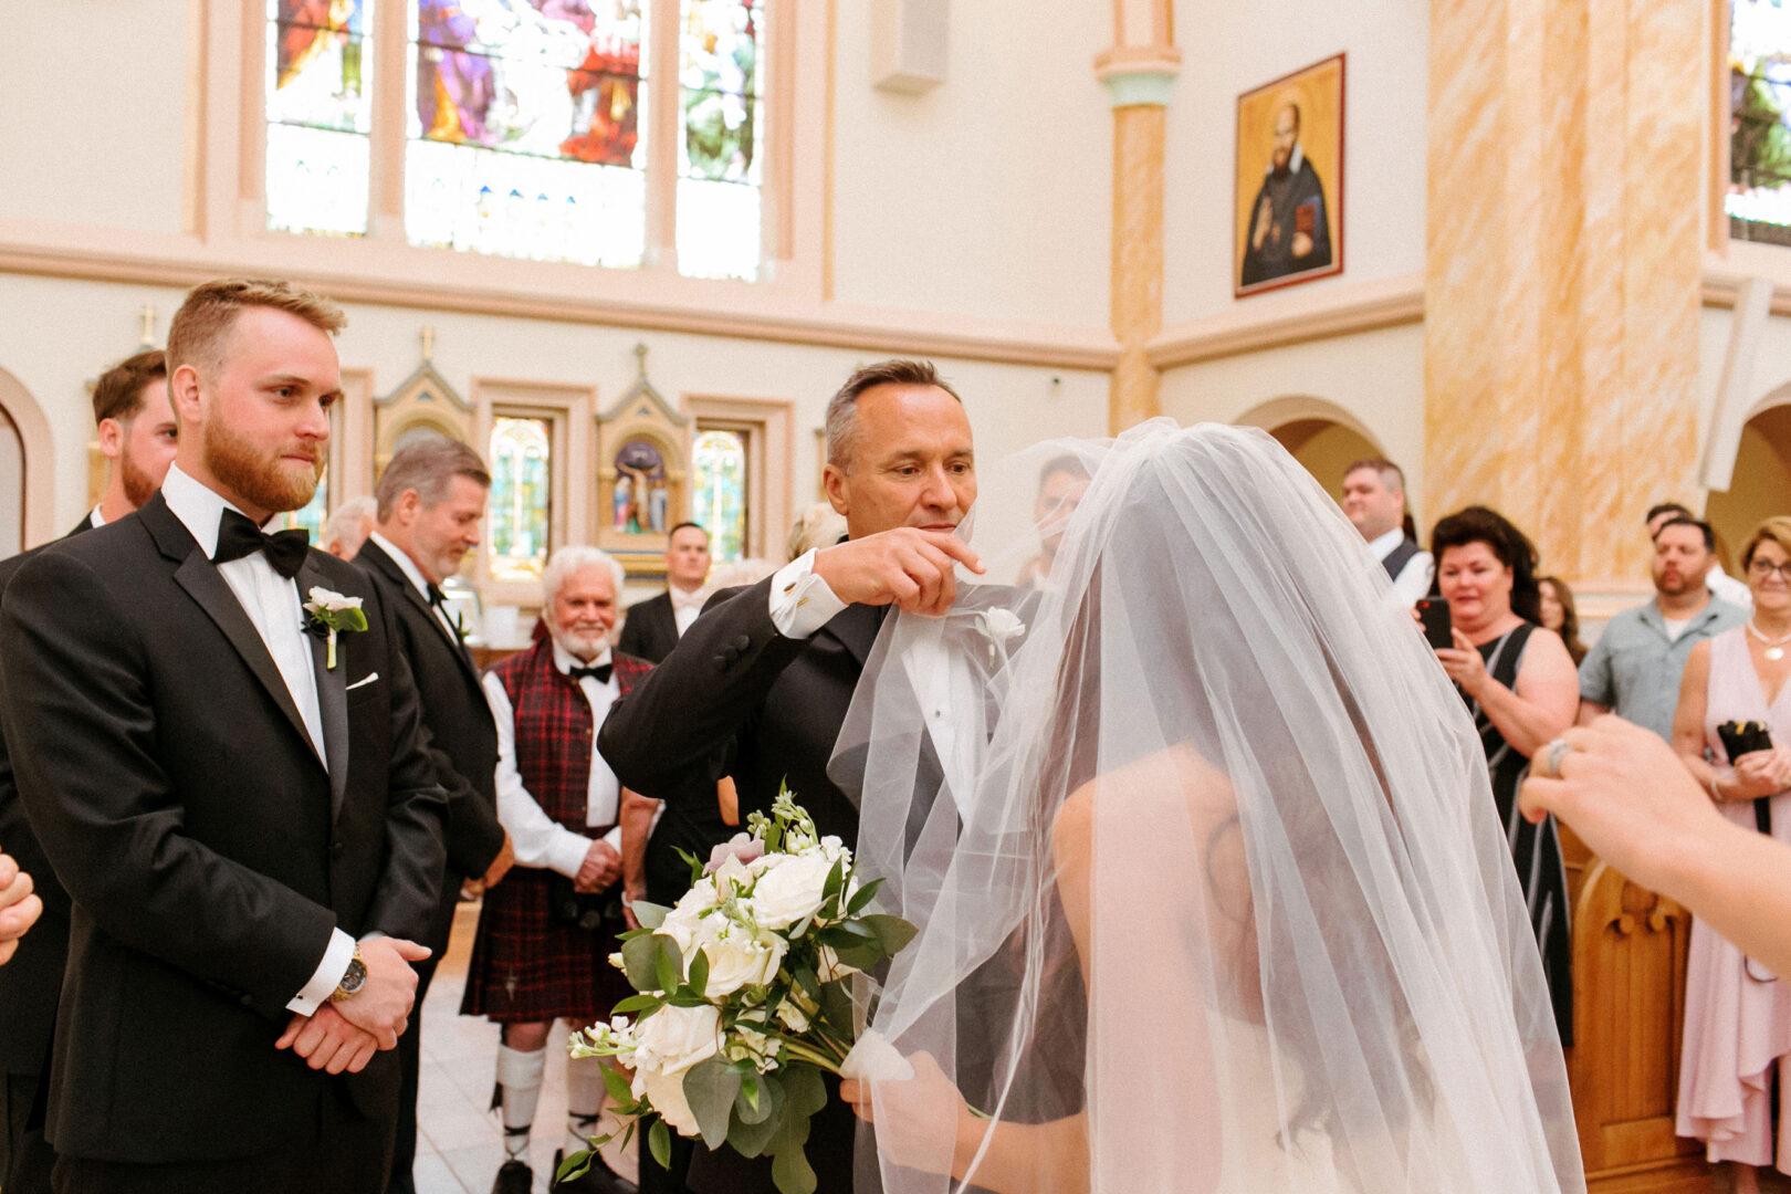
{"type": "MultiPolygon", "coordinates": [[[[236,510],[213,489],[201,485],[181,465],[170,465],[168,476],[161,483],[161,496],[168,503],[174,517],[181,519],[206,559],[219,550],[219,521],[224,510],[236,510]]],[[[242,514],[242,510],[236,510],[242,514]]],[[[242,612],[254,623],[256,634],[267,644],[267,653],[279,668],[279,678],[287,682],[292,704],[299,709],[304,732],[312,738],[312,746],[322,764],[330,766],[330,754],[324,748],[324,718],[317,705],[317,671],[312,661],[312,644],[304,637],[304,612],[299,600],[299,585],[274,571],[267,557],[253,551],[240,560],[217,566],[224,584],[236,594],[242,612]]],[[[288,1011],[313,1015],[330,999],[347,963],[355,958],[355,938],[342,929],[330,934],[330,947],[324,951],[312,981],[287,1002],[288,1011]]]]}

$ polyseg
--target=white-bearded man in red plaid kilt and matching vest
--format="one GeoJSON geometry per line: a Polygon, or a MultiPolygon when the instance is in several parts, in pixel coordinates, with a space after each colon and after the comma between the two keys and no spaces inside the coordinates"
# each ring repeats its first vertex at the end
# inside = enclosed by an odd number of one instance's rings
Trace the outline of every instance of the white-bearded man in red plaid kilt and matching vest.
{"type": "MultiPolygon", "coordinates": [[[[621,789],[596,754],[611,702],[650,664],[613,653],[621,566],[596,548],[561,548],[543,575],[548,637],[485,675],[498,723],[498,820],[516,866],[485,891],[467,963],[462,1015],[503,1024],[498,1090],[507,1158],[493,1194],[525,1194],[534,1173],[528,1135],[546,1042],[555,1020],[568,1029],[609,1019],[634,994],[609,954],[627,924],[616,814],[621,789]]],[[[568,1149],[586,1147],[604,1104],[598,1058],[568,1062],[568,1149]]],[[[566,1149],[562,1149],[564,1153],[566,1149]]],[[[555,1155],[555,1169],[559,1167],[555,1155]]],[[[553,1189],[634,1194],[598,1158],[578,1181],[553,1189]]]]}

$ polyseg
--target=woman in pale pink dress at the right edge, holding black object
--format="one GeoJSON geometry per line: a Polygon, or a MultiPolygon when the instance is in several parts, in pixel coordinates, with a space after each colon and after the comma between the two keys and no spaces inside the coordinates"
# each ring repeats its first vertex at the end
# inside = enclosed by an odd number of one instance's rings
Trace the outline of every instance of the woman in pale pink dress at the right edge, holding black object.
{"type": "MultiPolygon", "coordinates": [[[[1748,539],[1741,567],[1753,618],[1692,648],[1673,746],[1727,818],[1791,841],[1791,517],[1766,519],[1748,539]],[[1771,748],[1730,759],[1718,732],[1728,721],[1764,723],[1771,748]]],[[[1694,920],[1678,1133],[1703,1140],[1712,1162],[1732,1162],[1737,1194],[1753,1194],[1755,1165],[1773,1164],[1773,1063],[1784,1083],[1786,1054],[1791,976],[1780,981],[1694,920]]],[[[1777,1158],[1778,1169],[1791,1173],[1784,1117],[1777,1158]]]]}

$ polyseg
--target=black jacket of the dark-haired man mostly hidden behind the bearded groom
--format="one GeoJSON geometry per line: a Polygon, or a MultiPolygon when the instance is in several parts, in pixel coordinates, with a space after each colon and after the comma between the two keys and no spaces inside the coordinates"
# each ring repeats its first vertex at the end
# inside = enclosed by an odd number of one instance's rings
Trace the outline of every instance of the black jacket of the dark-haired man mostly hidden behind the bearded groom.
{"type": "MultiPolygon", "coordinates": [[[[82,517],[70,535],[93,530],[93,516],[82,517]]],[[[0,560],[0,607],[7,582],[20,566],[43,548],[0,560]]],[[[0,664],[4,666],[4,664],[0,664]]],[[[63,994],[63,967],[68,965],[68,891],[45,857],[38,834],[25,818],[18,798],[5,732],[0,730],[0,850],[11,854],[30,875],[43,899],[43,917],[18,943],[13,961],[0,967],[0,1074],[39,1074],[50,1058],[50,1033],[56,1028],[56,1001],[63,994]]]]}

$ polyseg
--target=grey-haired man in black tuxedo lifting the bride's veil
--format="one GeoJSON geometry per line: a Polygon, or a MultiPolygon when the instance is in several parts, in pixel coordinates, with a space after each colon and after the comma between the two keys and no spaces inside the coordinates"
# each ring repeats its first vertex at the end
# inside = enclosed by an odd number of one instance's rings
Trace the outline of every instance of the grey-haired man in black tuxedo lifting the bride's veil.
{"type": "MultiPolygon", "coordinates": [[[[768,813],[788,779],[822,834],[858,838],[827,777],[840,723],[888,605],[944,614],[953,566],[981,571],[951,532],[976,499],[971,422],[926,362],[853,374],[827,405],[827,498],[847,541],[749,589],[716,594],[677,648],[618,700],[598,748],[623,786],[670,806],[713,800],[731,775],[740,814],[768,813]]],[[[813,1121],[818,1189],[853,1189],[854,1121],[838,1099],[813,1121]]],[[[770,1162],[695,1149],[697,1194],[772,1194],[770,1162]]]]}

